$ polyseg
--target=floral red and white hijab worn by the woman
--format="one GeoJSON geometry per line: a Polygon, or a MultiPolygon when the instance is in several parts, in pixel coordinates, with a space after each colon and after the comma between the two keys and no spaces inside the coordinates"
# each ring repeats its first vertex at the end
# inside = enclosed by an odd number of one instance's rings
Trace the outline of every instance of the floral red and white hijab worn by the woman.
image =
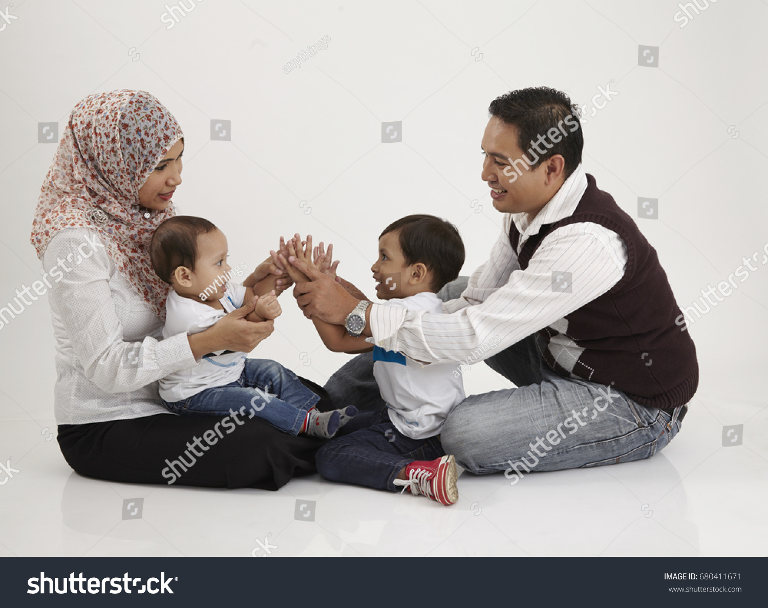
{"type": "Polygon", "coordinates": [[[165,319],[170,288],[152,270],[149,243],[176,210],[173,204],[162,211],[139,207],[139,189],[182,137],[173,114],[145,91],[80,101],[40,190],[30,236],[38,258],[58,230],[97,230],[118,271],[165,319]]]}

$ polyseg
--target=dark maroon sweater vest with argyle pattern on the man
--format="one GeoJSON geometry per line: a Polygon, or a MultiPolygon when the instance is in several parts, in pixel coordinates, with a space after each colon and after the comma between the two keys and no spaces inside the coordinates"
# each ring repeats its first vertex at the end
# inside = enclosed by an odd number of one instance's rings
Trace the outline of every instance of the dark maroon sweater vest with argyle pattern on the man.
{"type": "MultiPolygon", "coordinates": [[[[560,226],[577,222],[597,223],[621,236],[627,245],[627,267],[621,280],[608,292],[565,316],[568,325],[563,335],[558,335],[560,332],[552,326],[538,332],[546,344],[541,353],[546,365],[566,378],[576,376],[602,385],[614,384],[614,388],[648,407],[675,408],[686,404],[699,384],[699,365],[693,340],[675,325],[681,312],[667,274],[656,249],[634,220],[610,194],[598,190],[589,173],[587,190],[574,213],[541,226],[538,234],[525,242],[518,256],[520,268],[528,267],[545,236],[560,226]],[[568,352],[578,357],[570,371],[555,360],[552,352],[559,352],[564,343],[568,344],[568,352]]],[[[519,239],[513,222],[509,240],[515,251],[519,239]]],[[[567,268],[556,270],[568,272],[567,268]]],[[[576,283],[579,277],[573,276],[572,280],[576,283]]],[[[562,297],[568,294],[563,293],[562,297]]],[[[558,324],[561,329],[563,325],[558,324]]]]}

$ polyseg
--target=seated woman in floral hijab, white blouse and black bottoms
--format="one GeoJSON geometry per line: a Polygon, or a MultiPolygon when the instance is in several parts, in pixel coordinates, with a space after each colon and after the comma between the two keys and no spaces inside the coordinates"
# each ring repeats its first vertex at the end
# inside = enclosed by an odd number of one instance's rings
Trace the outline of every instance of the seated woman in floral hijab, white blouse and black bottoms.
{"type": "MultiPolygon", "coordinates": [[[[204,332],[161,339],[169,286],[148,247],[176,214],[183,150],[176,119],[144,91],[93,94],[70,114],[31,233],[50,286],[61,453],[110,481],[276,490],[315,470],[319,440],[237,412],[173,415],[157,392],[159,378],[209,352],[250,352],[273,331],[244,319],[254,300],[204,332]]],[[[268,259],[253,275],[270,272],[281,274],[268,259]]]]}

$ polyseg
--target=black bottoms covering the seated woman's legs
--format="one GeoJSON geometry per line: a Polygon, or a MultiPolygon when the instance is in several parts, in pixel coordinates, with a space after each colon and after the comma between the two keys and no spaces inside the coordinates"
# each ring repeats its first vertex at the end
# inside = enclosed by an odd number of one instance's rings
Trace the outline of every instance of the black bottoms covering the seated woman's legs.
{"type": "MultiPolygon", "coordinates": [[[[301,380],[320,395],[318,409],[333,409],[323,388],[301,380]]],[[[232,416],[158,414],[59,425],[58,444],[71,468],[86,477],[135,484],[172,481],[198,487],[277,490],[294,474],[316,470],[315,452],[323,440],[289,435],[262,418],[247,415],[238,415],[234,421],[232,416]]]]}

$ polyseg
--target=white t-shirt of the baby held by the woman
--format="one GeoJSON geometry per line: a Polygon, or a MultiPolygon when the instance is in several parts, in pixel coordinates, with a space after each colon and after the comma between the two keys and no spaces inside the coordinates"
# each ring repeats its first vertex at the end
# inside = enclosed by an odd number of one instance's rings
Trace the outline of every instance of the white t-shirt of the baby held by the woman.
{"type": "MultiPolygon", "coordinates": [[[[187,332],[190,335],[202,332],[214,325],[227,313],[243,306],[245,287],[227,283],[222,299],[223,310],[211,308],[194,299],[179,296],[171,290],[165,302],[165,327],[163,338],[187,332]]],[[[245,352],[215,351],[204,355],[193,368],[182,369],[160,380],[160,396],[165,401],[181,401],[197,395],[205,388],[223,386],[235,382],[243,373],[245,352]]]]}

